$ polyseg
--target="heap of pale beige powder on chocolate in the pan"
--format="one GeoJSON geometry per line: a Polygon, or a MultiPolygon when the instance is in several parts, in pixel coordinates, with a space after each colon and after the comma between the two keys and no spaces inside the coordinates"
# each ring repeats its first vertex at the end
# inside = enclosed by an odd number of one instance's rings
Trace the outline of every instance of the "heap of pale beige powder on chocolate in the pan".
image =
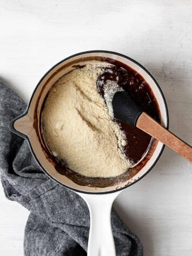
{"type": "Polygon", "coordinates": [[[60,78],[42,111],[43,135],[52,154],[75,172],[89,177],[124,173],[125,135],[111,120],[96,81],[102,68],[86,65],[60,78]]]}

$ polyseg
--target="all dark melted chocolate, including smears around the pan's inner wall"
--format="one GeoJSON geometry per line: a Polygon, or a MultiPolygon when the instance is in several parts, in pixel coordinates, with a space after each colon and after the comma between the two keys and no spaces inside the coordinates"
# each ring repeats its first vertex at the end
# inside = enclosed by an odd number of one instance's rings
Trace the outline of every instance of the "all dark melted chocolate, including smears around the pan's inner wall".
{"type": "MultiPolygon", "coordinates": [[[[128,91],[130,95],[135,99],[135,101],[138,104],[140,104],[143,111],[148,113],[157,121],[160,121],[158,104],[153,94],[153,91],[151,91],[149,84],[144,80],[144,78],[140,74],[136,73],[135,70],[131,69],[127,65],[116,60],[113,60],[111,58],[88,57],[86,58],[86,60],[98,60],[101,62],[108,62],[114,65],[111,68],[105,68],[104,73],[98,77],[97,87],[98,91],[100,91],[102,96],[104,95],[104,83],[107,80],[116,81],[120,87],[122,87],[125,91],[128,91]]],[[[84,61],[84,58],[82,58],[82,61],[84,61]]],[[[84,67],[84,65],[76,65],[74,63],[73,67],[82,68],[84,67]]],[[[41,95],[39,95],[39,97],[41,97],[41,95]]],[[[39,130],[41,130],[41,121],[38,121],[37,118],[38,111],[39,110],[37,103],[34,112],[34,129],[36,130],[37,137],[39,138],[39,142],[41,143],[45,156],[49,161],[52,162],[58,173],[67,176],[69,179],[71,179],[76,184],[81,186],[90,186],[95,187],[95,189],[97,189],[97,187],[102,188],[120,184],[120,187],[118,188],[121,188],[122,182],[131,180],[125,185],[128,186],[131,182],[134,181],[131,178],[135,176],[139,172],[139,170],[148,162],[151,155],[153,155],[153,152],[156,147],[156,140],[153,140],[150,146],[150,150],[147,156],[142,160],[142,162],[140,162],[136,167],[128,169],[127,172],[123,173],[118,177],[102,179],[89,177],[85,178],[84,176],[74,172],[73,170],[70,170],[64,163],[58,162],[56,158],[49,152],[49,149],[47,148],[46,143],[44,142],[42,133],[39,133],[39,130]]],[[[117,122],[121,124],[122,130],[124,130],[127,136],[128,145],[125,146],[125,154],[127,155],[127,157],[129,157],[129,159],[133,160],[134,162],[137,162],[138,160],[141,159],[142,155],[148,149],[151,142],[151,137],[136,127],[130,126],[129,124],[125,124],[121,121],[117,122]]]]}

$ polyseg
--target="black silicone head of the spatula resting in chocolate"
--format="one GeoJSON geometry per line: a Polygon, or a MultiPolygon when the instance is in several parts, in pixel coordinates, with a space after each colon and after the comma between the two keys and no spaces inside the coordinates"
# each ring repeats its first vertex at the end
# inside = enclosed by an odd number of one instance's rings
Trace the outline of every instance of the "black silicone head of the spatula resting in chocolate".
{"type": "Polygon", "coordinates": [[[129,123],[132,126],[136,126],[137,119],[143,112],[126,91],[117,91],[114,94],[112,108],[115,119],[129,123]]]}

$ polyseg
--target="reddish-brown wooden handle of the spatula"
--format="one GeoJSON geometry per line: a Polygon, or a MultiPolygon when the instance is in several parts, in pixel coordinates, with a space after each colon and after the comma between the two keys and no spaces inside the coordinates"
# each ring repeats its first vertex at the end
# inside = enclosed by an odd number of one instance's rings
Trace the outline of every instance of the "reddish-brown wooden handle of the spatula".
{"type": "Polygon", "coordinates": [[[189,162],[192,162],[192,148],[184,141],[178,139],[173,133],[170,133],[167,129],[162,127],[161,124],[157,123],[148,114],[142,113],[140,117],[138,117],[136,127],[161,141],[164,145],[173,149],[189,162]]]}

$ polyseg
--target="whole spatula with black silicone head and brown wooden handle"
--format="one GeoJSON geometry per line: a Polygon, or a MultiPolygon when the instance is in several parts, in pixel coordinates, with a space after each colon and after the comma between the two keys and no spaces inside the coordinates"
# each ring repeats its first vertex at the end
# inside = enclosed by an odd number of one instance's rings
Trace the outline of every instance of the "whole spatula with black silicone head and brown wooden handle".
{"type": "Polygon", "coordinates": [[[189,162],[192,162],[192,148],[144,113],[140,106],[130,97],[129,93],[117,91],[112,99],[112,108],[115,119],[140,128],[143,132],[155,137],[155,139],[173,149],[189,162]]]}

